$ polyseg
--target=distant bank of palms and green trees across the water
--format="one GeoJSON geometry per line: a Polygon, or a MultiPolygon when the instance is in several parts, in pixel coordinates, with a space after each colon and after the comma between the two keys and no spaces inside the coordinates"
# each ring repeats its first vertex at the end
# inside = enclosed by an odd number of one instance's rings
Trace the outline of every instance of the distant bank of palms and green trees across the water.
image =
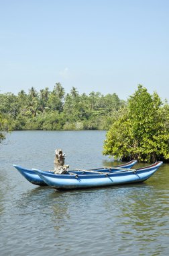
{"type": "Polygon", "coordinates": [[[0,129],[107,130],[125,104],[115,93],[79,94],[72,87],[66,94],[60,83],[56,83],[52,91],[45,88],[37,92],[32,87],[28,94],[23,90],[17,95],[0,94],[0,129]]]}

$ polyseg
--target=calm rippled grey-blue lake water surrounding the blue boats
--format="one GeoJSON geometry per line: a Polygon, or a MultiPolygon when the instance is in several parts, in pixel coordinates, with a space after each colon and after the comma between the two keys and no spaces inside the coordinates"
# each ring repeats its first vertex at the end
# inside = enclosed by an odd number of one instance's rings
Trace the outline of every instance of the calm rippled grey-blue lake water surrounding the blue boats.
{"type": "Polygon", "coordinates": [[[105,131],[7,135],[0,144],[0,255],[168,255],[168,164],[138,185],[64,192],[32,185],[12,166],[51,170],[56,148],[70,170],[118,164],[102,156],[104,139],[105,131]]]}

